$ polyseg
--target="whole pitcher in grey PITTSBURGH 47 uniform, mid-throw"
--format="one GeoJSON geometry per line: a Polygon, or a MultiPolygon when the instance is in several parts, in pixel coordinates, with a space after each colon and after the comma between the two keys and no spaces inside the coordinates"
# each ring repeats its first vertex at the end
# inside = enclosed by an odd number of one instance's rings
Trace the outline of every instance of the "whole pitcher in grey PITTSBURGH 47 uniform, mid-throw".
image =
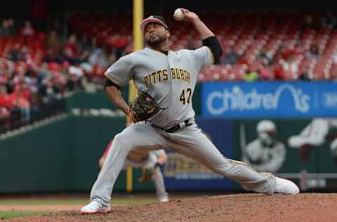
{"type": "Polygon", "coordinates": [[[265,194],[297,194],[291,181],[270,173],[258,173],[242,162],[227,159],[201,133],[194,121],[192,95],[201,67],[218,61],[222,50],[218,39],[198,15],[183,9],[185,21],[199,33],[203,45],[196,50],[169,51],[169,27],[161,16],[141,22],[148,48],[119,58],[106,72],[105,91],[112,102],[131,119],[133,112],[121,97],[119,88],[133,79],[138,93],[147,91],[160,107],[146,122],[131,124],[114,138],[103,168],[91,190],[91,202],[82,214],[108,213],[110,198],[128,152],[135,148],[168,148],[196,159],[217,174],[227,176],[244,188],[265,194]]]}

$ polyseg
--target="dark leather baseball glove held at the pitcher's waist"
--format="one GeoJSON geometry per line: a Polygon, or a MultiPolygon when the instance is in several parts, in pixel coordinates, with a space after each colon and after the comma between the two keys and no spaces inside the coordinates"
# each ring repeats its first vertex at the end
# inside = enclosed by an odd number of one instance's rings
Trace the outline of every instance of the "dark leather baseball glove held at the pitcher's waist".
{"type": "Polygon", "coordinates": [[[145,121],[156,115],[162,109],[154,98],[145,91],[141,91],[136,100],[130,103],[130,111],[133,112],[136,122],[145,121]]]}

